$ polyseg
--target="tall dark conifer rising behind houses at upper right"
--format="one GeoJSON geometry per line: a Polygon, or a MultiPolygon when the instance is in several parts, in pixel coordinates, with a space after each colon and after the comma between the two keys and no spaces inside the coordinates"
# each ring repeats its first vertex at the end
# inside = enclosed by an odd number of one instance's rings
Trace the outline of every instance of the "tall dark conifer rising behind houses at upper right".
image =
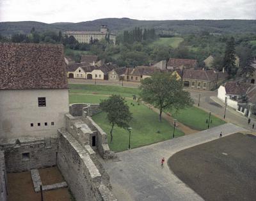
{"type": "Polygon", "coordinates": [[[233,37],[226,43],[225,55],[223,59],[223,68],[228,72],[228,75],[236,74],[236,50],[235,40],[233,37]]]}

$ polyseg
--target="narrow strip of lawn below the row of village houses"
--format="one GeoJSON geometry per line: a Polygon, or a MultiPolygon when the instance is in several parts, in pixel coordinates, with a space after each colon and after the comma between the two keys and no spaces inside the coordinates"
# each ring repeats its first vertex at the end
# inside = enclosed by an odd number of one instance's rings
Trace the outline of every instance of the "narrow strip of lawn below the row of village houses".
{"type": "Polygon", "coordinates": [[[102,86],[102,85],[86,85],[86,84],[68,84],[69,93],[85,93],[85,94],[120,94],[124,97],[138,96],[140,89],[131,87],[118,86],[102,86]]]}

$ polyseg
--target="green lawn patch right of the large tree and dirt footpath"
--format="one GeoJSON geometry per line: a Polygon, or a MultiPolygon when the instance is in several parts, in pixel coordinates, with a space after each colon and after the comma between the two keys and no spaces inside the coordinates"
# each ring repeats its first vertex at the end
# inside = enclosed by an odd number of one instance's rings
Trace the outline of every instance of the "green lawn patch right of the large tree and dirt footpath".
{"type": "MultiPolygon", "coordinates": [[[[197,107],[189,107],[184,110],[179,110],[177,114],[173,113],[172,117],[192,129],[205,130],[208,126],[206,119],[209,119],[209,113],[197,107]]],[[[212,123],[210,121],[209,128],[225,124],[225,121],[215,117],[214,115],[211,115],[211,119],[212,123]]]]}

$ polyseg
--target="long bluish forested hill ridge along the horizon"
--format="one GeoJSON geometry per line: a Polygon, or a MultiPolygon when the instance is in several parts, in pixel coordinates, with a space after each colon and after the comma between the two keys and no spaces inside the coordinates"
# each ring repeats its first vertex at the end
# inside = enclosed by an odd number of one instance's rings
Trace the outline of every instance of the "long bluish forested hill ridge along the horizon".
{"type": "Polygon", "coordinates": [[[98,31],[101,24],[107,24],[111,32],[118,33],[132,27],[154,27],[157,33],[188,34],[207,31],[209,33],[256,33],[256,20],[133,20],[128,18],[98,19],[87,22],[0,22],[0,34],[29,33],[36,31],[98,31]]]}

